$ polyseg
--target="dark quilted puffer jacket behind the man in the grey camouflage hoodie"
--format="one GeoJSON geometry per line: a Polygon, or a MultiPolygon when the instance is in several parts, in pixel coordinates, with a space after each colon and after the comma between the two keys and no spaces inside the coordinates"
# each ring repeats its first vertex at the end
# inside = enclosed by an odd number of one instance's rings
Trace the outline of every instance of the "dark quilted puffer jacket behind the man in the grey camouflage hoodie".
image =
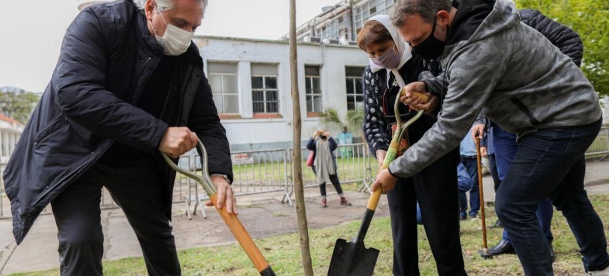
{"type": "Polygon", "coordinates": [[[547,18],[538,10],[523,9],[519,10],[519,14],[524,24],[546,36],[561,53],[568,55],[577,67],[582,65],[583,43],[577,32],[547,18]]]}

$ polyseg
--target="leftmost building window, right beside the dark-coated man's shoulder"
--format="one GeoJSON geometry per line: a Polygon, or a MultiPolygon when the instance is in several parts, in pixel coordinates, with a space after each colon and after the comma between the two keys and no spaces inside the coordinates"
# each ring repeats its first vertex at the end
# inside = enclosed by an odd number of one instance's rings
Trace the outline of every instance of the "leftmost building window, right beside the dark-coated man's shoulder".
{"type": "Polygon", "coordinates": [[[219,114],[239,114],[237,64],[207,63],[209,85],[219,114]]]}

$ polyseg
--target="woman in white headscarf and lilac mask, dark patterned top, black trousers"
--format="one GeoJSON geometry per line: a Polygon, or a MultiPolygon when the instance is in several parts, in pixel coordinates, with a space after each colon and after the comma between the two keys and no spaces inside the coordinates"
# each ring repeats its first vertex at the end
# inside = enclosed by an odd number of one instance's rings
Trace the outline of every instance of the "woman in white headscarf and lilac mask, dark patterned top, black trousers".
{"type": "MultiPolygon", "coordinates": [[[[395,125],[393,102],[401,86],[417,81],[423,71],[440,74],[438,60],[426,61],[411,52],[389,16],[378,15],[368,20],[357,35],[357,45],[368,53],[370,67],[364,72],[365,125],[364,133],[370,150],[382,164],[395,125]]],[[[438,98],[432,97],[417,109],[434,110],[438,98]]],[[[401,105],[403,122],[414,112],[401,105]]],[[[417,142],[433,125],[436,114],[426,114],[407,131],[401,142],[417,142]]],[[[438,275],[467,275],[459,240],[459,196],[457,191],[457,162],[454,150],[435,161],[411,178],[400,178],[387,193],[393,232],[393,274],[419,275],[416,210],[418,201],[423,226],[437,264],[438,275]]]]}

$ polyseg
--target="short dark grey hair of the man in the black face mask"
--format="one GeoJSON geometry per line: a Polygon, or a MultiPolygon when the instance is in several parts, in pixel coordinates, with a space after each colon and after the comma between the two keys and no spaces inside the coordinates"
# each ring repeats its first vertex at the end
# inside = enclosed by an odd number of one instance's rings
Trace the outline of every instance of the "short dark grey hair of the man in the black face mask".
{"type": "Polygon", "coordinates": [[[425,22],[434,22],[440,10],[450,12],[450,0],[399,0],[393,6],[391,22],[398,28],[404,26],[406,15],[419,15],[425,22]]]}

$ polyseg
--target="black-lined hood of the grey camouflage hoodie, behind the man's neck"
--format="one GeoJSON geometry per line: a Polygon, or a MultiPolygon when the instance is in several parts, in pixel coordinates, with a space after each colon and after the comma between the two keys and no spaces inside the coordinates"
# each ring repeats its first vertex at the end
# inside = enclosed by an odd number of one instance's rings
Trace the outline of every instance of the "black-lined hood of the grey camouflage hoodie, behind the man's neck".
{"type": "Polygon", "coordinates": [[[518,26],[520,16],[514,3],[506,0],[461,0],[452,23],[446,36],[443,66],[448,64],[452,53],[462,47],[518,26]],[[493,9],[480,22],[490,4],[493,9]]]}

